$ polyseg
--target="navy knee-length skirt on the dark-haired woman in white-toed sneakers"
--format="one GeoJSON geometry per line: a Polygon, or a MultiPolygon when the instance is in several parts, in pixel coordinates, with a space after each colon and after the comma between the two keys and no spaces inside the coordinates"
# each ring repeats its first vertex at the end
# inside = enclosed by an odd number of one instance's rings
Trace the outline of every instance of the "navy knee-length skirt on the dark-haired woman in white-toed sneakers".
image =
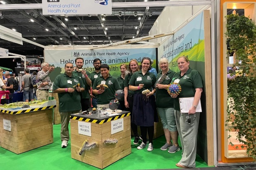
{"type": "Polygon", "coordinates": [[[154,126],[154,122],[158,121],[155,96],[151,95],[148,100],[144,100],[141,93],[135,93],[132,122],[137,126],[154,126]]]}

